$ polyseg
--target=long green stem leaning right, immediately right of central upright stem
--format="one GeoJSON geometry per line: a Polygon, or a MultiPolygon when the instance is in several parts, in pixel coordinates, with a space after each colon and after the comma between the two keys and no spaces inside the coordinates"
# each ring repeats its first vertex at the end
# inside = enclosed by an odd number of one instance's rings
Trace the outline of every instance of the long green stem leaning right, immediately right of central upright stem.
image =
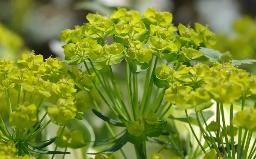
{"type": "Polygon", "coordinates": [[[143,116],[145,114],[145,112],[147,111],[148,109],[148,104],[149,104],[149,101],[150,101],[150,97],[151,97],[151,93],[152,93],[152,87],[153,87],[153,73],[157,67],[157,60],[158,58],[156,57],[156,60],[154,62],[154,67],[153,67],[153,70],[152,70],[152,74],[151,74],[151,77],[150,77],[150,82],[149,82],[149,85],[148,85],[148,91],[147,91],[147,95],[146,95],[146,99],[145,99],[145,104],[142,105],[142,112],[140,114],[140,116],[143,116]]]}

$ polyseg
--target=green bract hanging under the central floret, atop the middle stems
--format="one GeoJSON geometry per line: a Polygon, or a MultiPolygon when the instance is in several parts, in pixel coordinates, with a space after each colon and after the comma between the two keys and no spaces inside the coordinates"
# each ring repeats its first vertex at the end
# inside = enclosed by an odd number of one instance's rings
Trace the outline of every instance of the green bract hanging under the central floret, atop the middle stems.
{"type": "Polygon", "coordinates": [[[136,59],[131,60],[130,58],[125,58],[125,60],[129,64],[129,68],[134,74],[139,74],[142,71],[146,71],[149,68],[149,65],[147,62],[140,63],[136,59]]]}

